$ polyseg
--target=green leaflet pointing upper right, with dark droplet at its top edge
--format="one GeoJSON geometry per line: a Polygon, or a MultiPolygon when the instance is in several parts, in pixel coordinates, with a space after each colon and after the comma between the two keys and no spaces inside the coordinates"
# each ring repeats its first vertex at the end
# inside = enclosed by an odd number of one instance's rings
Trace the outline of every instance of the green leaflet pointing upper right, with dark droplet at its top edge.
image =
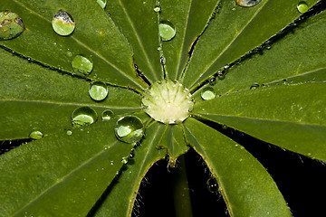
{"type": "MultiPolygon", "coordinates": [[[[312,6],[316,0],[306,1],[312,6]]],[[[253,7],[222,0],[214,20],[200,37],[189,62],[183,84],[195,88],[199,82],[267,41],[301,14],[297,0],[265,0],[253,7]],[[214,44],[214,46],[212,46],[214,44]]]]}

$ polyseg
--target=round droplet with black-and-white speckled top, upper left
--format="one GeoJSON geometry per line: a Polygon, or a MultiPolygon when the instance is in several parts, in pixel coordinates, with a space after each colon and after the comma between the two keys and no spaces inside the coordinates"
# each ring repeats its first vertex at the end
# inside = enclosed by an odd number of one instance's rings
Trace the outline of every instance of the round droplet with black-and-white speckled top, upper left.
{"type": "Polygon", "coordinates": [[[76,27],[72,15],[62,10],[54,14],[52,24],[54,32],[62,36],[71,34],[76,27]]]}

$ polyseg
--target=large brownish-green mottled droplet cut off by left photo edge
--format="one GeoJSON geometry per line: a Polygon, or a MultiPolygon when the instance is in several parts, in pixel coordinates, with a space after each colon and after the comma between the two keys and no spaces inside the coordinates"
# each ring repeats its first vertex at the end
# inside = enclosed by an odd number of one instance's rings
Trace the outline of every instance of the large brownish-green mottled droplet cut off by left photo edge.
{"type": "Polygon", "coordinates": [[[10,11],[0,11],[0,41],[10,40],[24,32],[22,19],[10,11]]]}

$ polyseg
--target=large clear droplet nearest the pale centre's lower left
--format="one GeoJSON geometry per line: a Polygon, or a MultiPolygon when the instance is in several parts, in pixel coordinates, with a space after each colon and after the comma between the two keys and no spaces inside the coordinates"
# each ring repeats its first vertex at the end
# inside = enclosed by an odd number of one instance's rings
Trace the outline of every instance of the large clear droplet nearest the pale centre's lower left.
{"type": "Polygon", "coordinates": [[[144,136],[144,126],[139,118],[125,116],[117,121],[115,134],[122,142],[139,142],[141,137],[144,136]]]}

